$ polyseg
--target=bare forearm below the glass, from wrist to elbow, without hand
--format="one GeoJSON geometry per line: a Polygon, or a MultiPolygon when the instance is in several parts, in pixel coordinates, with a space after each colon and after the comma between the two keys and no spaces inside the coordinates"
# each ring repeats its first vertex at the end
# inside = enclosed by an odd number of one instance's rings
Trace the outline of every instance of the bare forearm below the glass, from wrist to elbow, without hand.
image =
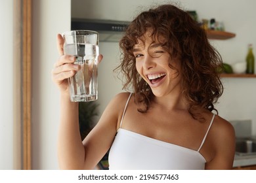
{"type": "Polygon", "coordinates": [[[58,134],[58,161],[60,169],[83,169],[85,150],[79,133],[78,103],[62,96],[58,134]]]}

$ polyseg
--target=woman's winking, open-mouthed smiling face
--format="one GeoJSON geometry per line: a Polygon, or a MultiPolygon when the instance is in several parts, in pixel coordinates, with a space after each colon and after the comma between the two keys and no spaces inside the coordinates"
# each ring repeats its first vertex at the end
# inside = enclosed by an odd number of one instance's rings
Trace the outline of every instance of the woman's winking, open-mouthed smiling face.
{"type": "Polygon", "coordinates": [[[161,42],[152,39],[150,33],[146,33],[133,47],[133,54],[138,73],[148,83],[154,95],[181,95],[179,61],[171,59],[161,42]]]}

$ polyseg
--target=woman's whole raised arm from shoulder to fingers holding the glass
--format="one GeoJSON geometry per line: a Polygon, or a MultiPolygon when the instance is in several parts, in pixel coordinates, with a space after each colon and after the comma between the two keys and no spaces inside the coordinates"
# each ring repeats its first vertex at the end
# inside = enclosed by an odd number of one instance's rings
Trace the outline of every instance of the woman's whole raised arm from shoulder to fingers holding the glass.
{"type": "MultiPolygon", "coordinates": [[[[63,52],[61,35],[57,36],[60,58],[54,64],[53,82],[60,90],[60,126],[58,132],[58,161],[60,169],[94,169],[106,154],[116,135],[117,122],[127,100],[127,93],[119,94],[106,107],[100,121],[81,141],[79,132],[78,103],[70,101],[67,78],[79,69],[74,56],[63,52]]],[[[99,61],[102,55],[98,57],[99,61]]]]}

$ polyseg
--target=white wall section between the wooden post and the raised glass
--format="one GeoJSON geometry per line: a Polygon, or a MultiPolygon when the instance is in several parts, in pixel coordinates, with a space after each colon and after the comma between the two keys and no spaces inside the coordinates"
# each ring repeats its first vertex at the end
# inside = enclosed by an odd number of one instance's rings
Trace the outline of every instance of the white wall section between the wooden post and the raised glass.
{"type": "Polygon", "coordinates": [[[32,169],[58,169],[59,93],[51,80],[56,35],[70,30],[70,0],[33,1],[32,169]]]}

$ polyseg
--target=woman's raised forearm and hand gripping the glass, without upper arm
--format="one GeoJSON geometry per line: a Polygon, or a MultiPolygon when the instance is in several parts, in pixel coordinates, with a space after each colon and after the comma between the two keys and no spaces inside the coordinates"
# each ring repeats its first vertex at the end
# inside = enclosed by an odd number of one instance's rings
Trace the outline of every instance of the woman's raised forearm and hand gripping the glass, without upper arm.
{"type": "Polygon", "coordinates": [[[54,64],[52,79],[60,90],[58,160],[61,169],[83,169],[85,150],[79,133],[78,103],[70,101],[67,81],[67,78],[75,75],[79,66],[74,64],[74,56],[64,55],[63,44],[64,39],[57,35],[60,58],[54,64]]]}

